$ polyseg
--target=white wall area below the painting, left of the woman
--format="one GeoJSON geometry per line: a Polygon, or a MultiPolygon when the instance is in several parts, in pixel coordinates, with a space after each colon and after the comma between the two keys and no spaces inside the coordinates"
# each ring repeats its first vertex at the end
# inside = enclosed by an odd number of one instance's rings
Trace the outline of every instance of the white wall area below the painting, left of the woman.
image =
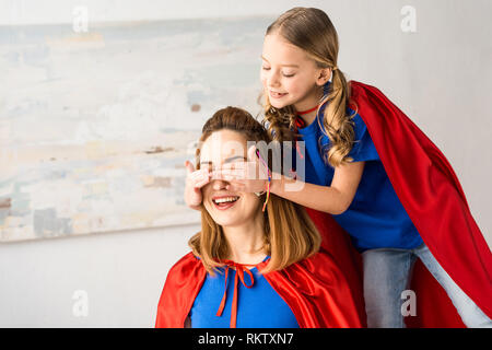
{"type": "Polygon", "coordinates": [[[180,226],[2,245],[0,327],[153,327],[167,269],[198,231],[180,226]],[[77,291],[86,293],[86,316],[77,291]]]}

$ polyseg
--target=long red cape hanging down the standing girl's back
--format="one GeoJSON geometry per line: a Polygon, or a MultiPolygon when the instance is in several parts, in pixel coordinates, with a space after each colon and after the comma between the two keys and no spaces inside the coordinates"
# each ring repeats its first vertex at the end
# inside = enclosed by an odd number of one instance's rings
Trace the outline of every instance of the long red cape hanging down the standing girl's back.
{"type": "MultiPolygon", "coordinates": [[[[433,256],[475,303],[492,317],[492,255],[449,162],[379,90],[350,82],[351,101],[367,126],[407,213],[433,256]]],[[[464,326],[444,290],[422,264],[413,287],[419,318],[411,326],[464,326]]]]}

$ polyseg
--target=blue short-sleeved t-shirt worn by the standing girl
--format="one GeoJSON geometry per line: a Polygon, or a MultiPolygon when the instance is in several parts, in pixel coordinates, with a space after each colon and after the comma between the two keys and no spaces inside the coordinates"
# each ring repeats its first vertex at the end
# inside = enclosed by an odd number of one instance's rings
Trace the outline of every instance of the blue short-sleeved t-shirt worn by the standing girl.
{"type": "MultiPolygon", "coordinates": [[[[354,112],[348,108],[348,113],[354,112]]],[[[318,125],[323,110],[309,126],[298,129],[306,152],[304,182],[330,186],[335,168],[321,158],[330,143],[318,125]]],[[[349,156],[354,162],[365,162],[365,166],[349,209],[333,219],[351,235],[360,252],[383,247],[411,249],[421,245],[423,241],[389,182],[364,121],[359,114],[352,120],[355,142],[349,156]]]]}

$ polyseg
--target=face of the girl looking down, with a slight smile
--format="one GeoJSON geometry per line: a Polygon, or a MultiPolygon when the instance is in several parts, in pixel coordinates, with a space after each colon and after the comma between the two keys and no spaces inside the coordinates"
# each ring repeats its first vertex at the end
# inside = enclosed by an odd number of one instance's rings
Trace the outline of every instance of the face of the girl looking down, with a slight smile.
{"type": "Polygon", "coordinates": [[[261,82],[273,107],[304,110],[318,104],[327,69],[317,67],[303,49],[273,33],[265,37],[261,58],[261,82]]]}

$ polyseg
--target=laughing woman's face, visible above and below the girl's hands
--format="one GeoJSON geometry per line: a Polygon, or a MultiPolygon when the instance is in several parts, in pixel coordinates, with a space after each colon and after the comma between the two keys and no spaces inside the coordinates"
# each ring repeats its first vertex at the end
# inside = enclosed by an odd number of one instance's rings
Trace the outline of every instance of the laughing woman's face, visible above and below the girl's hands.
{"type": "MultiPolygon", "coordinates": [[[[200,149],[200,167],[219,170],[222,164],[247,161],[246,139],[232,130],[213,132],[200,149]]],[[[213,179],[202,188],[203,206],[222,226],[237,226],[261,217],[255,194],[231,191],[227,182],[213,179]]]]}

